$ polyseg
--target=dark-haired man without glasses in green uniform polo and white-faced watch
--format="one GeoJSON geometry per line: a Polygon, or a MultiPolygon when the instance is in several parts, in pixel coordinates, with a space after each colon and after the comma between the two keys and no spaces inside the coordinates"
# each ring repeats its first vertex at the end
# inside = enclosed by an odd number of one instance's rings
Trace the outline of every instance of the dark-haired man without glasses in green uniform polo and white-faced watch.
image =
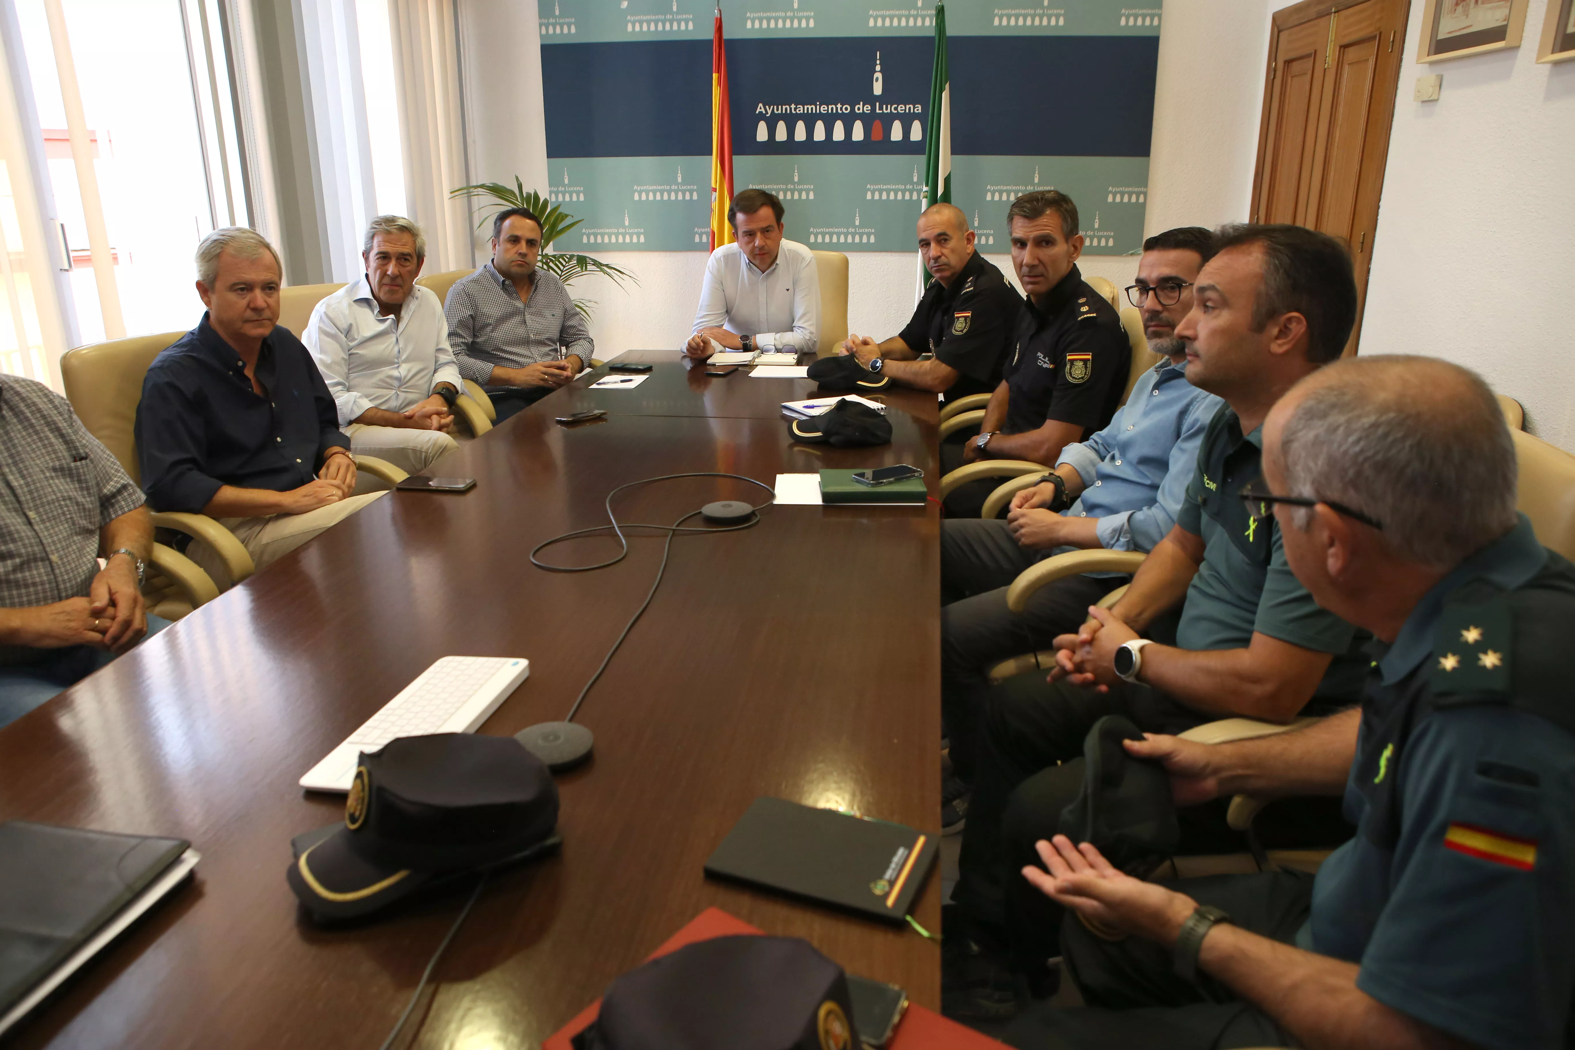
{"type": "MultiPolygon", "coordinates": [[[[1016,872],[1077,793],[1095,721],[1120,713],[1145,732],[1177,734],[1233,715],[1288,723],[1358,701],[1369,660],[1356,628],[1314,601],[1292,575],[1273,515],[1241,497],[1262,472],[1269,409],[1340,356],[1354,318],[1351,261],[1332,238],[1285,225],[1221,230],[1177,337],[1188,379],[1225,406],[1203,436],[1177,523],[1114,608],[1090,609],[1088,623],[1055,639],[1051,682],[1019,675],[988,697],[953,891],[959,911],[947,930],[950,1012],[1010,1017],[1021,1007],[1014,968],[1040,992],[1058,978],[1044,960],[1060,954],[1060,910],[1016,872]],[[1175,644],[1142,636],[1178,606],[1175,644]]],[[[1221,849],[1222,806],[1181,817],[1180,852],[1221,849]]],[[[1241,849],[1228,837],[1224,845],[1241,849]]]]}

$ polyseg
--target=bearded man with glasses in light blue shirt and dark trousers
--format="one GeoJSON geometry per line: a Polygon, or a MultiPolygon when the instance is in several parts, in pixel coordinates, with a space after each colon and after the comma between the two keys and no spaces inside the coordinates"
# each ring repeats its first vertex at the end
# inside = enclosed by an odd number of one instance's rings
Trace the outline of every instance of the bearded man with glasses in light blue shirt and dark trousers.
{"type": "Polygon", "coordinates": [[[1175,526],[1197,469],[1199,442],[1221,406],[1217,397],[1186,381],[1186,348],[1175,337],[1192,310],[1192,282],[1213,253],[1214,235],[1202,227],[1148,238],[1137,283],[1126,296],[1142,310],[1143,334],[1159,362],[1139,376],[1109,427],[1062,449],[1055,471],[1013,497],[1005,521],[940,523],[940,688],[953,767],[942,787],[940,830],[947,834],[962,830],[989,669],[1076,631],[1090,603],[1125,579],[1068,576],[1040,589],[1022,612],[1006,606],[1006,589],[1052,554],[1151,551],[1175,526]]]}

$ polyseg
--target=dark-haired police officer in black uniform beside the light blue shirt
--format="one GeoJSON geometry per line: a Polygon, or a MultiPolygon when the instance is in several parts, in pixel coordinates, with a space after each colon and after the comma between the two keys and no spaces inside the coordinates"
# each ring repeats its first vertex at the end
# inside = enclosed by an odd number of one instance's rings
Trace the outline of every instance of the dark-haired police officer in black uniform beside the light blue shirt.
{"type": "MultiPolygon", "coordinates": [[[[1065,446],[1110,422],[1126,392],[1132,354],[1121,316],[1077,269],[1077,205],[1058,190],[1035,190],[1013,201],[1006,222],[1028,301],[978,436],[959,453],[942,447],[947,472],[981,458],[1054,466],[1065,446]]],[[[999,483],[953,490],[948,513],[976,518],[999,483]]]]}

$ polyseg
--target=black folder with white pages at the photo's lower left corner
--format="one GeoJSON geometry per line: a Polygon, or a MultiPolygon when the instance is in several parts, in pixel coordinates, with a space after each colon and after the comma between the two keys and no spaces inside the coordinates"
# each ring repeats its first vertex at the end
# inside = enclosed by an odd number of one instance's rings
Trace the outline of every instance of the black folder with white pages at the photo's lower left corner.
{"type": "Polygon", "coordinates": [[[99,934],[118,932],[128,911],[140,915],[173,888],[161,875],[189,872],[189,847],[184,839],[0,823],[0,1031],[41,998],[41,985],[52,989],[76,970],[99,934]]]}

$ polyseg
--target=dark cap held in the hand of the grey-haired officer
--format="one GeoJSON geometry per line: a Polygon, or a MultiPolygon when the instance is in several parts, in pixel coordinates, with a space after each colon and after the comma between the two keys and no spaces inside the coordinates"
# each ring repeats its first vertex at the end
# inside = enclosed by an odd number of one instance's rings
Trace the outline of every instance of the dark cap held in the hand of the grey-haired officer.
{"type": "Polygon", "coordinates": [[[1084,738],[1082,790],[1060,820],[1062,834],[1093,842],[1123,871],[1170,856],[1181,837],[1170,776],[1158,762],[1134,759],[1121,746],[1142,738],[1121,715],[1096,721],[1084,738]]]}

